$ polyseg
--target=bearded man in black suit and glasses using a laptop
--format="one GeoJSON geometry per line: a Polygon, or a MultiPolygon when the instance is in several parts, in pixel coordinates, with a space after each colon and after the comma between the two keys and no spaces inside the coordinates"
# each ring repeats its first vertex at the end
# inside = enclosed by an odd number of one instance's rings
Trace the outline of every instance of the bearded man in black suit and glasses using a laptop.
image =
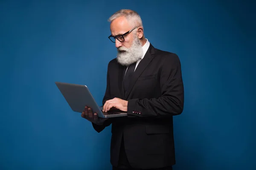
{"type": "Polygon", "coordinates": [[[145,39],[137,12],[120,10],[109,21],[117,57],[108,64],[103,111],[114,108],[128,116],[98,119],[87,107],[81,116],[93,122],[97,132],[112,124],[113,170],[172,170],[173,116],[183,111],[180,60],[145,39]]]}

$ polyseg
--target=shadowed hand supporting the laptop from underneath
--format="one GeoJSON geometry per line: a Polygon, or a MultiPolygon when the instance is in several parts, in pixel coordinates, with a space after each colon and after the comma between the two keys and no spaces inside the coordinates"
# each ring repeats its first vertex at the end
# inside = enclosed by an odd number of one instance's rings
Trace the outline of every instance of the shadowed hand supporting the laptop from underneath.
{"type": "Polygon", "coordinates": [[[98,117],[97,113],[93,114],[91,108],[88,108],[87,106],[85,106],[84,111],[81,113],[81,117],[95,123],[96,125],[103,125],[105,120],[107,120],[107,118],[102,119],[101,117],[98,117]]]}

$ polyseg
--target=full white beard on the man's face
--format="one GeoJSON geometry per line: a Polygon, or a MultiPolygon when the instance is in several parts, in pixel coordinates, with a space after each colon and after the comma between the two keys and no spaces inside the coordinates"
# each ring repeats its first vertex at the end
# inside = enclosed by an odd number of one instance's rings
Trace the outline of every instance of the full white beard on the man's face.
{"type": "Polygon", "coordinates": [[[134,40],[130,48],[126,48],[124,46],[117,48],[117,62],[124,66],[129,66],[132,63],[137,62],[142,55],[142,44],[137,36],[134,36],[134,40]]]}

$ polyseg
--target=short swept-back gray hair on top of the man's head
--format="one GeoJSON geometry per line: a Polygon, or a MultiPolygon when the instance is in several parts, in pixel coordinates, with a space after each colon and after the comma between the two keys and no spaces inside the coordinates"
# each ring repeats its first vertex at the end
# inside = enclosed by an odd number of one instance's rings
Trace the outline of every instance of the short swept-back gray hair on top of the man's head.
{"type": "Polygon", "coordinates": [[[133,11],[131,9],[121,9],[111,15],[111,17],[108,19],[108,22],[112,22],[118,17],[125,17],[126,20],[128,20],[128,22],[131,23],[133,27],[141,26],[143,28],[140,15],[136,11],[133,11]]]}

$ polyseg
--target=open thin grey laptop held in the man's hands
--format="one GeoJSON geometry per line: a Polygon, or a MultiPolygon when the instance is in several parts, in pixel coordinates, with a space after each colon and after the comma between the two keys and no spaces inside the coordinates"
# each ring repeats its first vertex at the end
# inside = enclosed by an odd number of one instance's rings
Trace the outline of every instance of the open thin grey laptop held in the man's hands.
{"type": "Polygon", "coordinates": [[[75,112],[82,113],[84,111],[84,107],[87,106],[92,109],[93,113],[97,113],[98,117],[101,118],[127,116],[127,112],[120,110],[103,112],[103,107],[99,107],[86,85],[77,85],[65,82],[55,82],[55,84],[66,99],[70,108],[75,112]]]}

